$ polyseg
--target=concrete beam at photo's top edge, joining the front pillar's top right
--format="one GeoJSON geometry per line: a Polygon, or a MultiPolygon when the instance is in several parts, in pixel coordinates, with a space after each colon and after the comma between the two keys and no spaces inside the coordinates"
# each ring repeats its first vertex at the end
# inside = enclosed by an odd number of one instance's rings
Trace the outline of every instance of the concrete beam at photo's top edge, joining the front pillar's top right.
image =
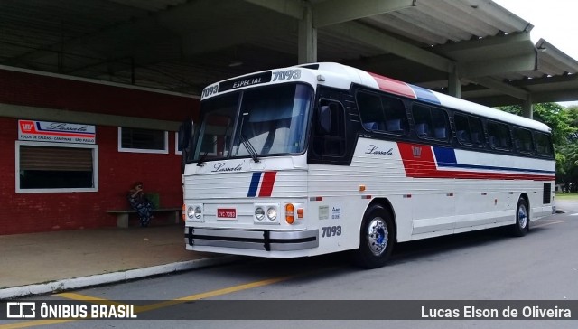
{"type": "MultiPolygon", "coordinates": [[[[329,0],[313,5],[313,27],[340,24],[415,6],[416,0],[329,0]]],[[[267,1],[268,2],[268,1],[267,1]]]]}

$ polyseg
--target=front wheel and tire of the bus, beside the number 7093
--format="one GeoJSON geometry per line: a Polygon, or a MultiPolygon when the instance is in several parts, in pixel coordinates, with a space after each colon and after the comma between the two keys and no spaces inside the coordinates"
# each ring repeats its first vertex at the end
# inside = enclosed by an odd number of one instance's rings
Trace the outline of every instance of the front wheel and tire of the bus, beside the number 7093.
{"type": "Polygon", "coordinates": [[[375,205],[363,216],[359,232],[359,249],[354,261],[362,268],[381,268],[394,249],[396,233],[389,211],[375,205]]]}

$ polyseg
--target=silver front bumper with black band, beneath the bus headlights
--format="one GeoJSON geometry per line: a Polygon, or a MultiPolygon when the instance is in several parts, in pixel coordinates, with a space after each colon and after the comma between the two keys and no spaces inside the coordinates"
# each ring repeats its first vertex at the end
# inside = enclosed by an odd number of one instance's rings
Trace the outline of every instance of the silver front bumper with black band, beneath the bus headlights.
{"type": "Polygon", "coordinates": [[[226,230],[185,227],[185,243],[264,251],[291,251],[319,247],[319,230],[226,230]]]}

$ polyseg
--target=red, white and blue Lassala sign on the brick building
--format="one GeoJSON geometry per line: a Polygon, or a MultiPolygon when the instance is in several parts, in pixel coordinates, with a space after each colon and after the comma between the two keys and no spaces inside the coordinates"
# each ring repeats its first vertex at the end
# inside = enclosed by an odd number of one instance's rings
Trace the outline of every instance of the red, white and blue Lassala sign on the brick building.
{"type": "Polygon", "coordinates": [[[95,126],[18,120],[18,140],[95,144],[96,136],[95,126]]]}

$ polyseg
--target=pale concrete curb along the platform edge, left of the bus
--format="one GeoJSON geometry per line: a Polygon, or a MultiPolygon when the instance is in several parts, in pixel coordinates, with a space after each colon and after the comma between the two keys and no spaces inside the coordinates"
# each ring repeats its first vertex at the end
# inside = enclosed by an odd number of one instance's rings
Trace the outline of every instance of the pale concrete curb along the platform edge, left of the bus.
{"type": "Polygon", "coordinates": [[[43,284],[22,287],[8,287],[5,289],[0,289],[0,300],[61,292],[63,290],[78,289],[82,287],[105,285],[127,280],[134,280],[137,278],[153,277],[161,274],[181,272],[196,268],[207,268],[211,266],[227,264],[237,259],[238,257],[236,256],[200,258],[171,264],[158,265],[150,268],[135,268],[123,272],[97,274],[89,277],[65,278],[43,284]]]}

